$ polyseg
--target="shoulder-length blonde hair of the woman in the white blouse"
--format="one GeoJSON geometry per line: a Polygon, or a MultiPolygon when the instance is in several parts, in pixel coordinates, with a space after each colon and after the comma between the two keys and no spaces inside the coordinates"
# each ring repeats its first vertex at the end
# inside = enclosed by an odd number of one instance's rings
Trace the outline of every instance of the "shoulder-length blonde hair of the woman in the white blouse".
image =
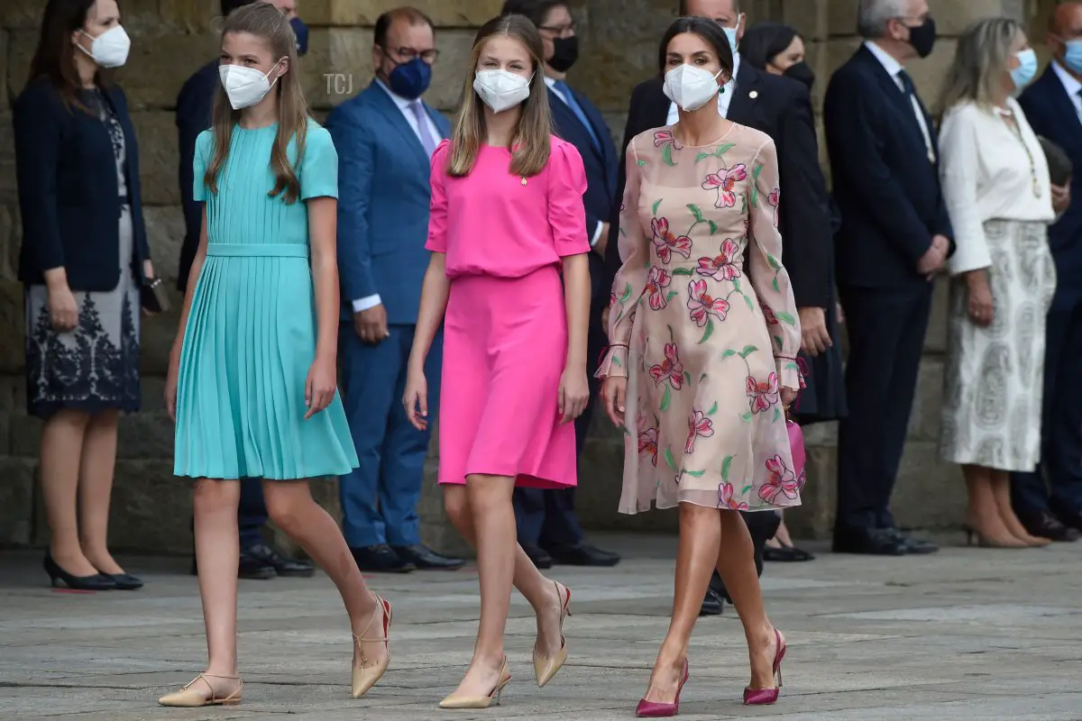
{"type": "Polygon", "coordinates": [[[961,103],[990,108],[1003,95],[1003,72],[1020,32],[1021,25],[1010,17],[988,17],[965,28],[939,95],[940,117],[961,103]]]}

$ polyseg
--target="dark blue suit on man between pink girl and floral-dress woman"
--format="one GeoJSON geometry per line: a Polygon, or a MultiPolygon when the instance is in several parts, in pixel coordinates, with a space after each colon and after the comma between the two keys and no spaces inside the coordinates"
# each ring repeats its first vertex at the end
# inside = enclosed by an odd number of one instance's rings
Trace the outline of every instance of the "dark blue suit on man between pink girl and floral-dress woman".
{"type": "MultiPolygon", "coordinates": [[[[575,92],[567,85],[560,90],[570,91],[572,99],[582,110],[590,128],[565,103],[555,91],[549,91],[549,107],[556,135],[571,143],[586,171],[586,191],[582,196],[586,211],[586,232],[593,238],[598,223],[608,221],[613,214],[617,200],[617,179],[619,155],[612,144],[605,118],[585,96],[575,92]]],[[[586,349],[586,371],[590,378],[590,395],[596,399],[598,380],[594,378],[596,363],[605,345],[606,331],[602,326],[601,316],[608,304],[608,289],[604,286],[605,263],[597,253],[590,253],[591,304],[590,335],[586,349]]],[[[590,423],[593,418],[594,402],[575,422],[576,445],[582,453],[590,423]]],[[[582,529],[575,516],[575,490],[565,489],[543,491],[540,489],[516,489],[514,492],[515,518],[518,526],[518,540],[522,544],[542,545],[582,543],[582,529]]]]}

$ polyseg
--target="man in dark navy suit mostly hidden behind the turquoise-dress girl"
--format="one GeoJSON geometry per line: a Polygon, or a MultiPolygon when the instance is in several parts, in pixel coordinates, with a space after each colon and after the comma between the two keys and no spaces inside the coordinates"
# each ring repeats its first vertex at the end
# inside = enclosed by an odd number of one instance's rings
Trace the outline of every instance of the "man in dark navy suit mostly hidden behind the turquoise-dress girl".
{"type": "MultiPolygon", "coordinates": [[[[256,0],[222,0],[222,16],[234,10],[250,5],[256,0]]],[[[289,18],[296,35],[296,51],[303,55],[308,49],[308,29],[296,16],[295,0],[270,0],[289,18]]],[[[176,273],[176,290],[184,292],[188,286],[188,275],[192,262],[199,250],[199,231],[202,227],[201,202],[193,197],[195,170],[193,160],[196,153],[196,138],[211,125],[211,110],[214,105],[214,94],[221,84],[219,79],[219,62],[211,61],[196,70],[187,79],[176,96],[176,133],[181,149],[181,204],[184,209],[184,244],[181,246],[181,265],[176,273]]],[[[267,508],[263,502],[263,483],[258,478],[246,478],[240,481],[240,506],[237,509],[237,522],[240,528],[240,565],[238,576],[241,578],[266,579],[275,576],[303,576],[315,573],[315,566],[308,561],[292,559],[263,537],[263,526],[267,522],[267,508]]],[[[195,560],[192,562],[192,573],[196,573],[195,560]]]]}

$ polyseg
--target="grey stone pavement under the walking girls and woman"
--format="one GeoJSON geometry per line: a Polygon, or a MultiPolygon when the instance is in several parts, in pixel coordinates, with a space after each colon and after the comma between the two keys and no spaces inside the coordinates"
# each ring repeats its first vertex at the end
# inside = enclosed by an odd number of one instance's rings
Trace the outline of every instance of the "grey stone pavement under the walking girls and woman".
{"type": "MultiPolygon", "coordinates": [[[[624,562],[553,574],[575,593],[568,665],[549,686],[536,686],[533,622],[516,597],[507,627],[514,680],[503,705],[459,712],[436,703],[470,658],[472,570],[372,578],[395,605],[393,662],[361,700],[348,696],[349,629],[330,582],[242,582],[245,702],[179,710],[155,699],[204,660],[186,560],[124,559],[145,574],[144,590],[75,595],[45,588],[37,555],[0,553],[0,719],[630,719],[667,627],[675,542],[597,540],[622,550],[624,562]]],[[[770,564],[763,586],[790,647],[779,704],[740,705],[748,662],[727,607],[696,627],[681,718],[1082,719],[1080,566],[1082,544],[952,547],[899,559],[821,553],[810,563],[770,564]]]]}

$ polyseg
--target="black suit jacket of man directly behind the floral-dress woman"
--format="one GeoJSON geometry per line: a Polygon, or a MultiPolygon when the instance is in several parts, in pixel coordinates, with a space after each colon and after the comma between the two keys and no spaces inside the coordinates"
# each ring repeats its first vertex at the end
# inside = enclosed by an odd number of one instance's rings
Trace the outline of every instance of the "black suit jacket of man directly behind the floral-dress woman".
{"type": "MultiPolygon", "coordinates": [[[[665,124],[671,102],[661,90],[663,78],[639,83],[631,94],[624,150],[631,138],[665,124]]],[[[819,168],[812,98],[795,80],[771,76],[740,63],[728,119],[770,136],[778,149],[782,201],[779,226],[783,239],[786,270],[799,307],[826,308],[830,297],[832,241],[827,184],[819,168]]],[[[618,165],[617,204],[623,196],[624,158],[618,165]]],[[[620,269],[617,249],[619,222],[612,219],[606,250],[606,283],[609,288],[620,269]]]]}

